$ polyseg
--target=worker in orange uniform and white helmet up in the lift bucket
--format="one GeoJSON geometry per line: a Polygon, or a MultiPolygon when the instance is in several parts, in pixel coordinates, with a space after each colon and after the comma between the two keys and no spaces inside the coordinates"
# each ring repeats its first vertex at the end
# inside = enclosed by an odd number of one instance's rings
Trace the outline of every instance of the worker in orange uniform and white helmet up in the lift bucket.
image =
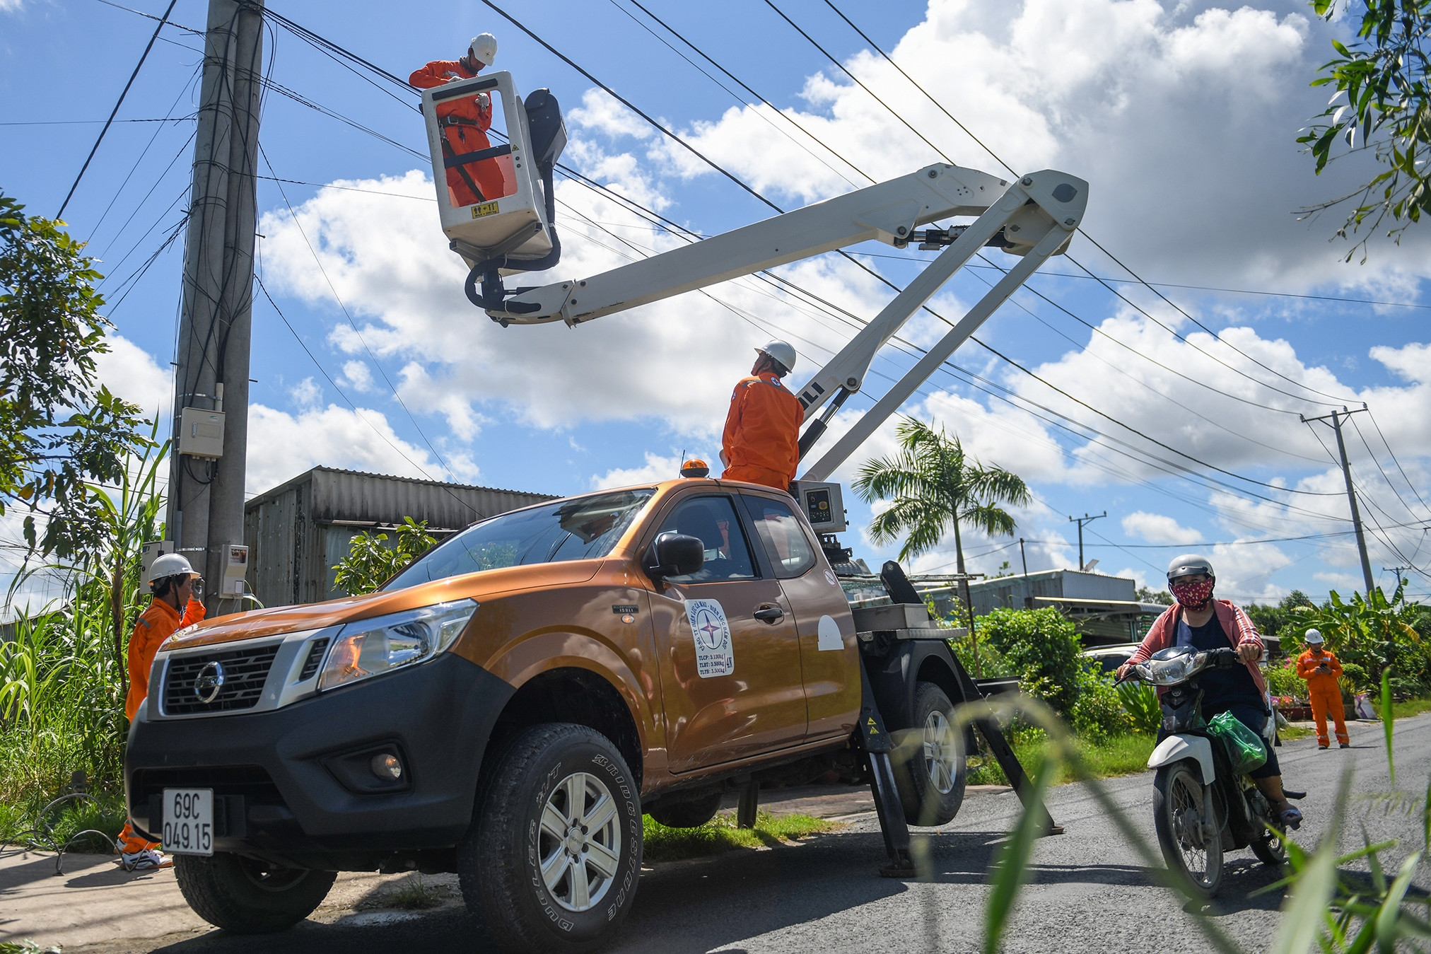
{"type": "MultiPolygon", "coordinates": [[[[469,80],[495,59],[497,37],[482,33],[472,37],[467,56],[459,60],[432,60],[421,70],[414,70],[408,84],[425,90],[454,80],[469,80]]],[[[487,130],[492,126],[491,94],[482,92],[475,96],[454,96],[438,100],[436,107],[444,159],[452,160],[492,147],[487,137],[487,130]]],[[[448,197],[454,206],[491,202],[505,193],[505,177],[495,156],[448,167],[448,197]]]]}

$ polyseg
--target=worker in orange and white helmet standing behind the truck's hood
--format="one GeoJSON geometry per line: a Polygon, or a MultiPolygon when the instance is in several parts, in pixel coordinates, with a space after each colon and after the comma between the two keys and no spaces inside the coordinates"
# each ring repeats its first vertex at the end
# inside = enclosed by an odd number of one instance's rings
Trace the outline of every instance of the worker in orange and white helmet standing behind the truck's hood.
{"type": "MultiPolygon", "coordinates": [[[[203,619],[203,604],[195,599],[199,574],[180,554],[165,554],[149,569],[149,591],[155,598],[149,609],[135,624],[129,638],[129,695],[124,697],[124,715],[135,721],[139,705],[149,695],[149,671],[155,665],[159,645],[175,631],[203,619]],[[179,608],[183,606],[183,615],[179,608]]],[[[135,832],[132,822],[124,822],[116,842],[119,861],[126,871],[167,868],[173,860],[159,852],[159,842],[149,841],[135,832]]]]}

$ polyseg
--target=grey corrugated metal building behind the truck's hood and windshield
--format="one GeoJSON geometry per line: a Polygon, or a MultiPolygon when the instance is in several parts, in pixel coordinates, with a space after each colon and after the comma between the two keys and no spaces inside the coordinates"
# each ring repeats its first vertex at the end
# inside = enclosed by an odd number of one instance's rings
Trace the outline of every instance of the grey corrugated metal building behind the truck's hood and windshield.
{"type": "Polygon", "coordinates": [[[313,468],[243,505],[248,585],[265,606],[333,599],[343,594],[333,588],[332,568],[362,531],[411,516],[442,536],[550,499],[554,495],[313,468]]]}

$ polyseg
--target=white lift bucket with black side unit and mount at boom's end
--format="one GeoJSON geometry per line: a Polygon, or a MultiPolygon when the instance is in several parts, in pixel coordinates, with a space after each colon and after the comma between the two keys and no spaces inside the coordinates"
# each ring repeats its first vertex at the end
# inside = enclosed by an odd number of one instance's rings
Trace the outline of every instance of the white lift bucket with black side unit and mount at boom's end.
{"type": "Polygon", "coordinates": [[[499,70],[424,90],[422,116],[442,232],[468,265],[468,299],[482,309],[521,308],[504,305],[501,276],[561,260],[552,167],[567,129],[557,97],[541,89],[524,102],[512,74],[499,70]],[[464,119],[479,94],[491,102],[489,129],[464,119]]]}

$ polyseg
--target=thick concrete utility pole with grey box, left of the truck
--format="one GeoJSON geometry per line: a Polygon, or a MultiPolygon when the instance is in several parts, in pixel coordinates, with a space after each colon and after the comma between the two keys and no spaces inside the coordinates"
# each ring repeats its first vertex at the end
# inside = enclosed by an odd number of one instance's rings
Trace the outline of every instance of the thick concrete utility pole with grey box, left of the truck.
{"type": "Polygon", "coordinates": [[[225,546],[243,542],[262,66],[262,0],[209,0],[175,352],[166,535],[205,575],[210,615],[238,608],[232,599],[220,608],[219,585],[225,546]],[[180,423],[185,408],[223,413],[222,456],[218,448],[205,449],[205,456],[185,453],[186,445],[203,449],[200,415],[180,423]]]}

